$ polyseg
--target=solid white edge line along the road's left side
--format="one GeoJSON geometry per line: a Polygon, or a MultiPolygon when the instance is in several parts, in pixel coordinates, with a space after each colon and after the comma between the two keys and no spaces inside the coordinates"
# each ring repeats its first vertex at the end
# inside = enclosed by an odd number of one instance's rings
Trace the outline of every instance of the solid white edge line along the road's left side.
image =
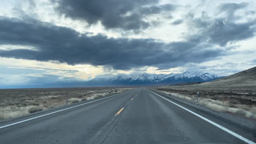
{"type": "MultiPolygon", "coordinates": [[[[133,91],[133,90],[132,90],[132,91],[133,91]]],[[[127,91],[127,92],[130,92],[130,91],[127,91]]],[[[123,93],[119,93],[119,94],[124,94],[124,93],[127,93],[127,92],[123,92],[123,93]]],[[[114,97],[114,96],[119,95],[119,94],[111,95],[111,96],[109,96],[109,97],[102,98],[102,99],[111,98],[111,97],[114,97]]],[[[66,109],[62,109],[62,110],[59,110],[59,111],[50,112],[50,113],[47,113],[47,114],[45,114],[45,115],[41,115],[41,116],[38,116],[38,117],[28,118],[28,119],[25,119],[25,120],[23,120],[23,121],[19,121],[19,122],[16,122],[16,123],[11,123],[11,124],[7,124],[7,125],[3,125],[2,127],[0,127],[0,129],[6,128],[6,127],[10,127],[11,125],[15,125],[15,124],[19,124],[19,123],[31,121],[32,119],[36,119],[36,118],[39,118],[39,117],[44,117],[44,116],[52,115],[52,114],[57,113],[57,112],[65,111],[65,110],[68,110],[68,109],[72,109],[72,108],[74,108],[74,107],[78,107],[78,106],[90,104],[90,103],[93,103],[93,102],[95,102],[95,101],[102,100],[102,99],[97,99],[97,100],[94,100],[94,101],[90,101],[90,102],[88,102],[88,103],[84,103],[84,104],[80,104],[80,105],[68,107],[68,108],[66,108],[66,109]]]]}

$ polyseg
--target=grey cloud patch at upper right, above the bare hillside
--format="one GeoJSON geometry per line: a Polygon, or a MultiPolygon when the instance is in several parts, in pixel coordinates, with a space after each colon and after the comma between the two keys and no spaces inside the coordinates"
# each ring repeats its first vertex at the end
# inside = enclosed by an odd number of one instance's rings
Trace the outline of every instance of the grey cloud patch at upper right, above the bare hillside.
{"type": "MultiPolygon", "coordinates": [[[[203,12],[201,17],[194,17],[188,14],[187,18],[191,18],[189,25],[197,29],[196,35],[202,35],[208,43],[225,46],[239,40],[252,38],[256,32],[256,20],[251,19],[246,22],[236,22],[240,20],[240,16],[236,16],[238,9],[247,7],[247,3],[224,3],[219,5],[219,13],[223,13],[223,17],[212,19],[207,17],[207,13],[203,12]]],[[[248,11],[246,11],[248,12],[248,11]]],[[[195,35],[192,35],[195,37],[195,35]]]]}

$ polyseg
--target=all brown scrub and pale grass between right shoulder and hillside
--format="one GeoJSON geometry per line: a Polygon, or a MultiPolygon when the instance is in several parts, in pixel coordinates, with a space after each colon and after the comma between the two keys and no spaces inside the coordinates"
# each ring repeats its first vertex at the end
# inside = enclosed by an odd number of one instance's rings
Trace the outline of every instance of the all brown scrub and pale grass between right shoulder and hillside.
{"type": "Polygon", "coordinates": [[[160,92],[191,101],[191,103],[206,106],[219,112],[229,112],[236,115],[256,118],[256,92],[248,88],[242,92],[237,89],[210,89],[202,87],[193,89],[182,86],[153,87],[160,92]],[[196,93],[200,92],[198,103],[196,93]]]}

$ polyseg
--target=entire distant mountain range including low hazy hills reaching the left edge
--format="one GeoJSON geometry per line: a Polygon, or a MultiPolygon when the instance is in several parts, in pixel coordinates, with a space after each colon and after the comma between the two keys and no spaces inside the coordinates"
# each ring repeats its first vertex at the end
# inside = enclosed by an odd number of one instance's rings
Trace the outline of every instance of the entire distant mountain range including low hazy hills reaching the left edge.
{"type": "Polygon", "coordinates": [[[132,73],[117,74],[105,77],[95,77],[92,80],[84,81],[62,81],[53,83],[33,83],[31,85],[13,85],[0,88],[53,88],[53,87],[106,87],[106,86],[160,86],[173,85],[187,82],[208,82],[222,78],[210,73],[201,71],[185,71],[179,74],[149,74],[149,73],[132,73]]]}

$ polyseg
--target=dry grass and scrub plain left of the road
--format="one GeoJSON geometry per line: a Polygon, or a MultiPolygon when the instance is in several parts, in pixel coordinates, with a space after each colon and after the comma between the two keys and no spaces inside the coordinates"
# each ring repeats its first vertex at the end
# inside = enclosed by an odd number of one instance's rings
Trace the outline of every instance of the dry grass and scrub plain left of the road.
{"type": "Polygon", "coordinates": [[[0,120],[65,105],[66,91],[68,92],[68,104],[73,104],[130,89],[132,88],[0,89],[0,120]]]}

